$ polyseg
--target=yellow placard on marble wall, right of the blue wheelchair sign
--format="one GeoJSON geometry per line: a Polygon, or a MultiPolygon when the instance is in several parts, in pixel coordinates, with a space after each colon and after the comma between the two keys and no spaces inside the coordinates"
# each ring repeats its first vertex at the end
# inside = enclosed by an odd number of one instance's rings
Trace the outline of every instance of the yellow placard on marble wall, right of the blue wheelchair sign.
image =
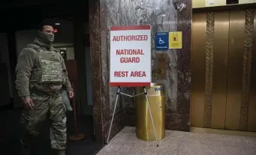
{"type": "Polygon", "coordinates": [[[169,32],[169,49],[182,49],[182,31],[169,32]]]}

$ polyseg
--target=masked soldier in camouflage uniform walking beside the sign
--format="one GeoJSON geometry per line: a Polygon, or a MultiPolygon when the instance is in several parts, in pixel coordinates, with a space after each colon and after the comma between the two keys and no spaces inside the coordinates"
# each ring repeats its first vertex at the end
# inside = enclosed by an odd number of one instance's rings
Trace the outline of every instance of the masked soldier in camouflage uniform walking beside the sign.
{"type": "Polygon", "coordinates": [[[53,40],[53,25],[42,22],[34,42],[18,58],[16,87],[25,106],[20,119],[22,154],[31,154],[30,146],[38,136],[40,125],[49,118],[51,148],[56,155],[65,155],[67,119],[60,91],[65,86],[69,97],[74,97],[74,92],[65,62],[52,46],[53,40]]]}

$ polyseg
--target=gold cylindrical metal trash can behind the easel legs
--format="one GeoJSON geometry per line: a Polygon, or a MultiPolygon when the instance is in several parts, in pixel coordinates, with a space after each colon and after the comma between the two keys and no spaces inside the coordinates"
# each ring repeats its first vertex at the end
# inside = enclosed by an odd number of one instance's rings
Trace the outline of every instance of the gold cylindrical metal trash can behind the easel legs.
{"type": "MultiPolygon", "coordinates": [[[[152,83],[146,87],[149,97],[149,106],[155,124],[155,134],[157,140],[164,139],[165,136],[165,94],[164,85],[152,83]]],[[[137,88],[137,94],[143,93],[144,88],[137,88]]],[[[150,118],[149,107],[144,94],[135,97],[136,111],[136,136],[144,141],[155,141],[154,128],[150,118]]]]}

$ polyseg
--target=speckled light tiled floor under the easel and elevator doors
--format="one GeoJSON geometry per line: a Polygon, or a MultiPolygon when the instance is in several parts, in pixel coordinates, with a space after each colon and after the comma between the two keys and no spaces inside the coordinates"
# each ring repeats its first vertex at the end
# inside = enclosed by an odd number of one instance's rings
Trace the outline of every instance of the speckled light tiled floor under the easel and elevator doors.
{"type": "Polygon", "coordinates": [[[156,142],[137,139],[134,127],[125,127],[98,155],[255,155],[256,139],[211,133],[166,131],[156,142]]]}

